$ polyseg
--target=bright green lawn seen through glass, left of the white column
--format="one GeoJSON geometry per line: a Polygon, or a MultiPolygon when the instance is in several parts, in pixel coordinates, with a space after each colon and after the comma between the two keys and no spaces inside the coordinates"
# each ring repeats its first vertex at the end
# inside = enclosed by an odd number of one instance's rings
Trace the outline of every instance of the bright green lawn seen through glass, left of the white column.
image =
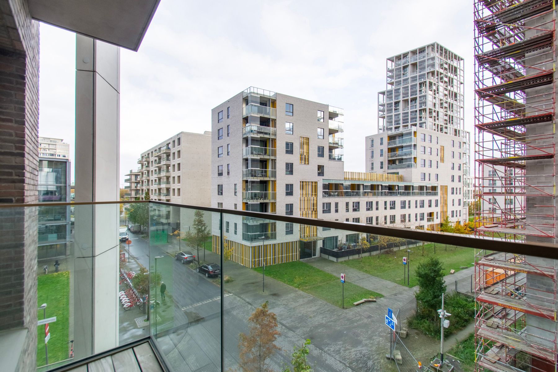
{"type": "MultiPolygon", "coordinates": [[[[41,275],[37,278],[37,308],[47,304],[46,317],[55,316],[56,322],[49,323],[49,364],[68,359],[70,272],[62,271],[41,275]]],[[[38,320],[43,319],[43,311],[38,310],[38,320]]],[[[45,326],[37,327],[37,366],[45,365],[45,326]]]]}

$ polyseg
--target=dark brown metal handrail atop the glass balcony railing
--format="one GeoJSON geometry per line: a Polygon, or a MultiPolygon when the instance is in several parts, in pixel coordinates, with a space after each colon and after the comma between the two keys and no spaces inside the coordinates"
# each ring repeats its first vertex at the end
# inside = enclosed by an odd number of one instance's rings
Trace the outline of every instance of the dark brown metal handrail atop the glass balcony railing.
{"type": "MultiPolygon", "coordinates": [[[[508,252],[514,254],[526,254],[542,258],[558,259],[558,246],[550,243],[531,243],[531,242],[519,242],[519,241],[503,241],[503,240],[493,240],[493,239],[482,239],[470,235],[463,234],[453,234],[453,233],[443,233],[441,231],[426,231],[418,229],[402,229],[394,228],[391,226],[382,225],[367,225],[367,224],[357,224],[339,221],[329,221],[312,219],[305,217],[293,217],[293,216],[283,216],[280,214],[263,213],[263,212],[251,212],[235,209],[222,209],[204,206],[194,206],[194,205],[184,205],[172,202],[164,201],[154,201],[154,200],[120,200],[120,201],[97,201],[97,202],[70,202],[70,203],[59,203],[59,202],[42,202],[35,204],[0,204],[0,208],[17,208],[17,207],[39,207],[39,206],[61,206],[61,205],[104,205],[104,204],[133,204],[151,202],[153,204],[176,206],[187,209],[197,209],[208,212],[217,212],[223,214],[231,214],[237,216],[247,216],[258,219],[266,219],[273,221],[291,222],[301,225],[312,225],[322,228],[339,229],[339,230],[349,230],[355,233],[364,234],[374,234],[374,235],[384,235],[393,236],[395,238],[402,239],[414,239],[421,241],[428,241],[430,243],[440,243],[440,244],[455,244],[455,241],[459,241],[461,247],[468,247],[474,249],[488,249],[488,250],[498,250],[499,252],[508,252]]],[[[223,219],[222,219],[223,221],[223,219]]]]}

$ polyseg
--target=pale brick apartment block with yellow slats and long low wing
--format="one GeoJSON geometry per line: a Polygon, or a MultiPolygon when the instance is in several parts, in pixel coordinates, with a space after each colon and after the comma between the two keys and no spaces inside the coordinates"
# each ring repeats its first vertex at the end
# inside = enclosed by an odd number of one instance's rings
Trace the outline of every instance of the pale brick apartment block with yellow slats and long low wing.
{"type": "MultiPolygon", "coordinates": [[[[434,181],[345,172],[343,118],[343,109],[254,87],[218,105],[211,111],[211,206],[434,228],[440,221],[434,181]]],[[[263,241],[273,264],[358,239],[276,221],[233,215],[224,220],[233,259],[251,267],[261,264],[263,241]]],[[[218,235],[214,231],[214,249],[218,235]]]]}

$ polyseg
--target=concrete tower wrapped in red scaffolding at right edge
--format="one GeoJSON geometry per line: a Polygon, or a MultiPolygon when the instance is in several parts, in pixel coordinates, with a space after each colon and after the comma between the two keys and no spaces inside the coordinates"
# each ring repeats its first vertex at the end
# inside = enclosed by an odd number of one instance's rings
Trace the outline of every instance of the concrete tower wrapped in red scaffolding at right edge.
{"type": "MultiPolygon", "coordinates": [[[[556,242],[554,0],[474,0],[475,234],[556,242]]],[[[555,260],[475,259],[477,371],[557,370],[555,260]]]]}

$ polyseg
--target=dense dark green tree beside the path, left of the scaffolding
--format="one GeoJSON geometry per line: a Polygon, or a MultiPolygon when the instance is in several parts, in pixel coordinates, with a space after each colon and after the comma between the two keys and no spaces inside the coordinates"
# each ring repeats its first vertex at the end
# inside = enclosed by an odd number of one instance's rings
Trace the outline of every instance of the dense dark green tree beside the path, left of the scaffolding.
{"type": "Polygon", "coordinates": [[[442,293],[446,292],[444,267],[437,257],[429,257],[420,263],[415,275],[419,282],[419,292],[415,294],[421,311],[435,318],[436,310],[442,305],[442,293]]]}

